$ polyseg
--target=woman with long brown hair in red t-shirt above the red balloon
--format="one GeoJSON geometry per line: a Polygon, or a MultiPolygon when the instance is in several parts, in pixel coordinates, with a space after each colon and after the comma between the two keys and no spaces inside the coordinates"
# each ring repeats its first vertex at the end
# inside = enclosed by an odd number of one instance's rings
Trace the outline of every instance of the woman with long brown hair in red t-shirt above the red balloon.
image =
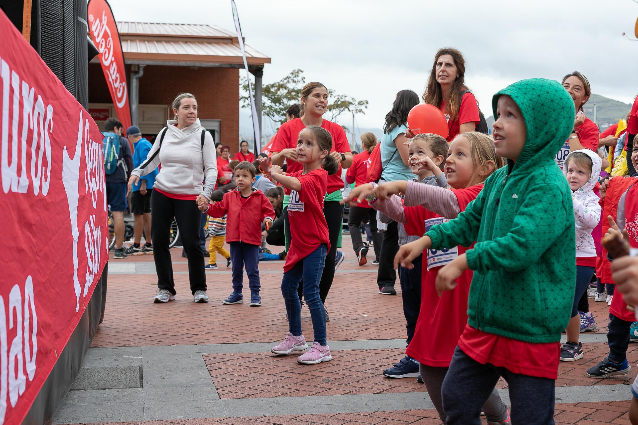
{"type": "Polygon", "coordinates": [[[452,141],[459,133],[474,131],[479,124],[479,104],[465,86],[465,59],[454,48],[441,48],[434,56],[434,65],[423,94],[424,103],[441,110],[447,119],[452,141]]]}

